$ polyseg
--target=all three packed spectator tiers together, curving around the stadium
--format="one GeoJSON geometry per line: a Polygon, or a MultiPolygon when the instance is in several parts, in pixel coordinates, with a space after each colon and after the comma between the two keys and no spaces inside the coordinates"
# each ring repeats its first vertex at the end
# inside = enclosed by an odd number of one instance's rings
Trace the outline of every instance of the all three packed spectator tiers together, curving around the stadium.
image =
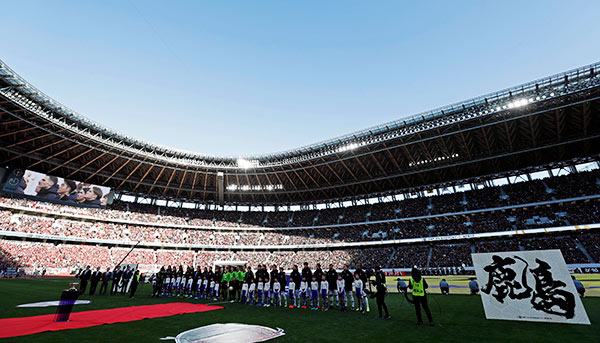
{"type": "Polygon", "coordinates": [[[135,249],[124,262],[139,263],[145,271],[161,265],[211,265],[237,260],[286,268],[304,261],[320,261],[336,267],[419,265],[429,267],[432,273],[445,268],[456,272],[455,268],[472,264],[472,252],[533,249],[560,249],[567,263],[597,262],[600,237],[594,232],[369,249],[276,250],[281,245],[373,242],[596,223],[600,217],[599,177],[595,170],[464,193],[289,212],[204,211],[125,202],[102,210],[6,196],[0,198],[0,231],[65,240],[0,240],[0,267],[44,267],[61,272],[83,265],[105,268],[120,262],[129,251],[116,245],[136,242],[206,244],[216,250],[135,249]],[[548,203],[539,204],[541,201],[548,203]],[[69,239],[105,240],[115,246],[75,245],[69,244],[69,239]],[[223,251],[235,246],[272,246],[273,251],[223,251]]]}

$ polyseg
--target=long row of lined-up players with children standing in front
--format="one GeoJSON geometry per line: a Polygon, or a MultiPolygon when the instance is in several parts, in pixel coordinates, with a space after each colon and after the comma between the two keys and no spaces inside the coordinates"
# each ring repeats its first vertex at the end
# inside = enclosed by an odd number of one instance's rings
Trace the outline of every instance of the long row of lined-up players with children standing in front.
{"type": "Polygon", "coordinates": [[[358,267],[354,273],[348,266],[338,273],[333,265],[323,272],[317,264],[313,272],[304,263],[302,272],[294,265],[290,275],[283,267],[258,265],[256,273],[251,267],[227,266],[194,270],[188,267],[163,267],[152,277],[153,297],[229,300],[247,305],[329,310],[332,307],[346,311],[369,312],[367,272],[358,267]],[[356,301],[355,301],[356,296],[356,301]]]}

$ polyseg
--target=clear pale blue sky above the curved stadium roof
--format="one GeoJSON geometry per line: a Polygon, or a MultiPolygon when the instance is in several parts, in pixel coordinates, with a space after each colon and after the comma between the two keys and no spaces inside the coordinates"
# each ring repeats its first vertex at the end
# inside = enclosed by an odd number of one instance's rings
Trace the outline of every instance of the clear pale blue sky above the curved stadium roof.
{"type": "Polygon", "coordinates": [[[5,1],[0,59],[147,141],[292,149],[600,60],[600,1],[5,1]]]}

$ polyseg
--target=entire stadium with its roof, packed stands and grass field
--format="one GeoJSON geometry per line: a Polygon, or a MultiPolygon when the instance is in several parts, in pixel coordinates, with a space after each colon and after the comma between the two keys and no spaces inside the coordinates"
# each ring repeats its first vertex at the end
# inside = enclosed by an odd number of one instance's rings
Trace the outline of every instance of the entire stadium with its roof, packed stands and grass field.
{"type": "MultiPolygon", "coordinates": [[[[110,274],[109,295],[84,291],[80,299],[92,302],[74,315],[170,303],[222,307],[74,330],[23,329],[0,336],[6,341],[156,341],[213,323],[283,329],[275,341],[600,337],[600,63],[292,150],[218,156],[110,129],[0,60],[0,127],[0,323],[53,315],[56,308],[16,306],[56,300],[70,282],[85,290],[88,266],[102,273],[131,266],[137,273],[127,282],[139,275],[140,285],[133,299],[110,295],[110,274]],[[486,320],[480,296],[469,295],[472,254],[547,249],[558,249],[583,284],[591,325],[486,320]],[[239,302],[241,279],[224,283],[214,300],[160,288],[164,267],[176,274],[181,266],[212,273],[274,265],[289,277],[305,262],[314,274],[317,263],[340,277],[344,268],[365,270],[366,283],[381,268],[392,319],[375,320],[374,299],[365,314],[275,301],[252,308],[239,302]],[[414,310],[396,285],[412,280],[414,266],[429,283],[435,323],[418,337],[405,335],[414,330],[414,310]],[[440,294],[441,279],[450,296],[440,294]]],[[[11,331],[10,323],[0,331],[11,331]]]]}

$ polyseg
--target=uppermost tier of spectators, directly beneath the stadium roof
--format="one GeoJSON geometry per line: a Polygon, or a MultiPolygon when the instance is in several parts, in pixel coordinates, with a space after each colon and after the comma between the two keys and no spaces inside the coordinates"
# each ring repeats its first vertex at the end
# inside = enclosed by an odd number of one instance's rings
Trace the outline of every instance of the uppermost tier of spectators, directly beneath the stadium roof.
{"type": "Polygon", "coordinates": [[[109,209],[79,208],[40,201],[1,198],[0,203],[44,212],[131,222],[213,227],[305,227],[363,223],[476,209],[528,204],[600,194],[600,170],[436,196],[408,194],[404,200],[322,210],[241,212],[188,209],[115,201],[109,209]]]}

